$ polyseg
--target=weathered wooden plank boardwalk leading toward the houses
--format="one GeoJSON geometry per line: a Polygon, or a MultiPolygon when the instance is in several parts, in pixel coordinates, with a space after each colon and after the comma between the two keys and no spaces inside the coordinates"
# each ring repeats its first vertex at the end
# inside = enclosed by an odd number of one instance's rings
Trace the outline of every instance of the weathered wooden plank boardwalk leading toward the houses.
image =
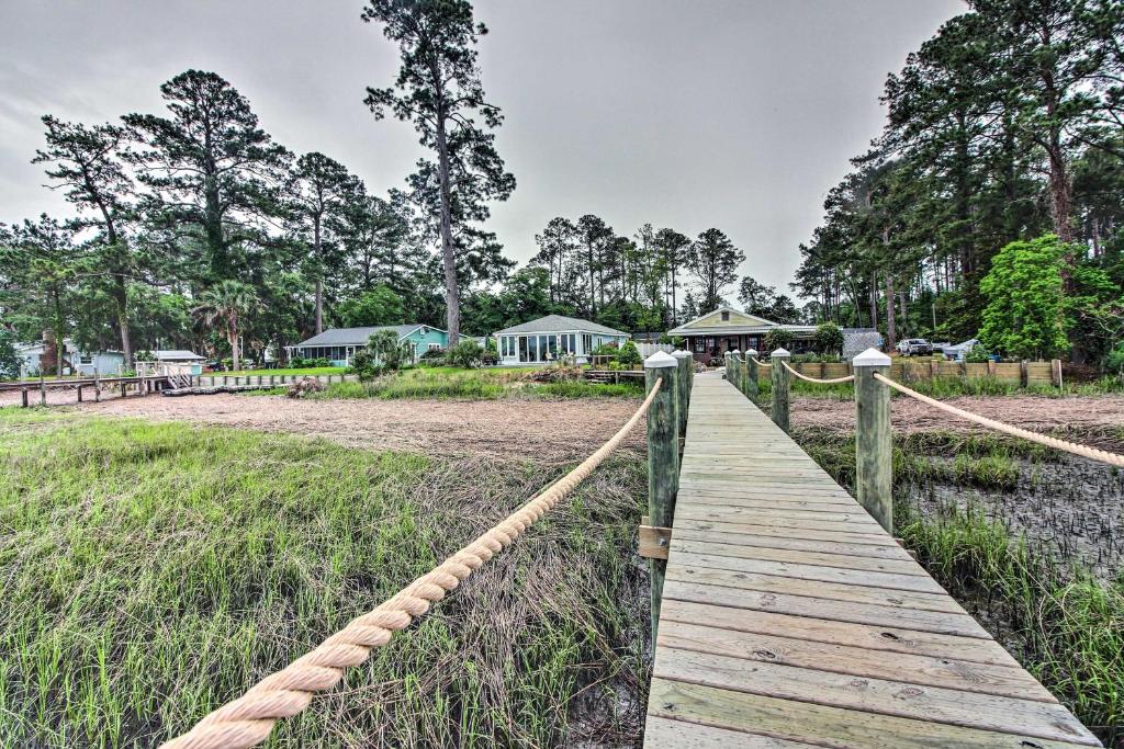
{"type": "Polygon", "coordinates": [[[699,375],[644,746],[1100,745],[764,413],[699,375]]]}

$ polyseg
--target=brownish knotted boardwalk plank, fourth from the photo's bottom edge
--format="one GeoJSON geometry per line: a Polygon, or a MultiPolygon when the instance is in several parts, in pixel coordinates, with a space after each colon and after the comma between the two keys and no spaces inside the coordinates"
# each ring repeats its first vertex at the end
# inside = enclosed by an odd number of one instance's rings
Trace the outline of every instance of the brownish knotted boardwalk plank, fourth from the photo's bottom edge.
{"type": "Polygon", "coordinates": [[[818,642],[782,633],[742,632],[672,620],[660,625],[659,646],[852,676],[891,681],[907,676],[910,684],[1035,702],[1058,702],[1044,686],[1013,661],[992,665],[962,660],[958,655],[927,656],[912,652],[896,652],[892,657],[887,657],[885,651],[871,652],[851,643],[818,642]]]}

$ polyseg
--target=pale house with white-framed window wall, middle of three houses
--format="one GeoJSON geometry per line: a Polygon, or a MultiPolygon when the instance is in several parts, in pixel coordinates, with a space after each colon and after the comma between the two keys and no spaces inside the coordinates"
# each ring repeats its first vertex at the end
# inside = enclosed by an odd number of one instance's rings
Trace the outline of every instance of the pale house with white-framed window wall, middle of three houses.
{"type": "Polygon", "coordinates": [[[546,364],[560,356],[573,356],[578,364],[586,364],[598,346],[623,346],[628,340],[624,331],[564,314],[547,314],[498,330],[492,336],[504,366],[546,364]]]}

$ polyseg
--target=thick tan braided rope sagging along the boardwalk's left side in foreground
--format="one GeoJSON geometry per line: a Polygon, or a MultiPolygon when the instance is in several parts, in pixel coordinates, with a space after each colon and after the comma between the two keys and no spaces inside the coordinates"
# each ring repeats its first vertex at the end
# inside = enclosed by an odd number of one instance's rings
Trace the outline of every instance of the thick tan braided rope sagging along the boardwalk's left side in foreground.
{"type": "Polygon", "coordinates": [[[359,666],[371,649],[386,645],[391,634],[441,601],[493,555],[510,546],[533,522],[550,512],[597,466],[620,446],[647,412],[663,378],[628,421],[577,468],[550,485],[538,496],[513,512],[491,530],[418,577],[373,611],[353,619],[342,630],[285,668],[266,676],[243,696],[228,702],[196,723],[189,732],[161,745],[163,749],[244,749],[264,741],[282,718],[305,710],[312,694],[335,686],[344,669],[359,666]]]}

